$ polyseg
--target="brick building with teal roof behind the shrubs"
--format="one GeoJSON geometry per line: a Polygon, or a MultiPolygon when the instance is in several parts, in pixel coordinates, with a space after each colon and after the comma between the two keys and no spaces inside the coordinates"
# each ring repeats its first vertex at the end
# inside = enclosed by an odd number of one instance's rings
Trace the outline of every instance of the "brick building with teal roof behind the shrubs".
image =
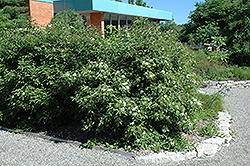
{"type": "Polygon", "coordinates": [[[103,33],[107,25],[119,28],[135,17],[157,22],[172,20],[171,12],[111,0],[29,0],[29,7],[32,20],[40,25],[47,25],[62,10],[73,9],[103,33]]]}

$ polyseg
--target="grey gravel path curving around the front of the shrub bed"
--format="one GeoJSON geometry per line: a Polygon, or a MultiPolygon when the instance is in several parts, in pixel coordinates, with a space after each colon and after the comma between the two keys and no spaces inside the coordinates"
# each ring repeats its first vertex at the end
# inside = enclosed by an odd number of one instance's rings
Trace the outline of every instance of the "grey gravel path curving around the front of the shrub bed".
{"type": "MultiPolygon", "coordinates": [[[[206,89],[212,92],[213,89],[206,89]]],[[[177,163],[147,163],[101,150],[54,143],[41,138],[0,130],[0,165],[250,165],[250,88],[233,89],[225,97],[238,136],[229,147],[222,147],[212,158],[197,158],[177,163]]]]}

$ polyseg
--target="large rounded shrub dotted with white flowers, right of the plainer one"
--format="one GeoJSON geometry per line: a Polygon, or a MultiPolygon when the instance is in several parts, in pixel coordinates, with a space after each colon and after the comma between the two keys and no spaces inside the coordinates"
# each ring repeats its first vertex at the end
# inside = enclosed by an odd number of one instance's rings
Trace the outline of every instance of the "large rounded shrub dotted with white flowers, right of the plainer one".
{"type": "Polygon", "coordinates": [[[88,112],[84,128],[96,133],[95,143],[156,151],[187,145],[181,133],[200,109],[200,80],[192,54],[159,28],[136,20],[105,39],[100,59],[82,69],[86,81],[73,99],[88,112]]]}

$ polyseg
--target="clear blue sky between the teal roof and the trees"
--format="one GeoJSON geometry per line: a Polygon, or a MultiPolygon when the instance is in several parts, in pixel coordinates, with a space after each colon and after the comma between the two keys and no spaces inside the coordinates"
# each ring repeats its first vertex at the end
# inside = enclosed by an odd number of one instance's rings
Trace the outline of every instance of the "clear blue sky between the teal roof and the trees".
{"type": "MultiPolygon", "coordinates": [[[[188,22],[190,11],[195,10],[196,2],[204,2],[205,0],[143,0],[148,6],[154,9],[165,10],[173,13],[174,21],[177,24],[188,22]]],[[[127,2],[127,0],[123,0],[127,2]]]]}

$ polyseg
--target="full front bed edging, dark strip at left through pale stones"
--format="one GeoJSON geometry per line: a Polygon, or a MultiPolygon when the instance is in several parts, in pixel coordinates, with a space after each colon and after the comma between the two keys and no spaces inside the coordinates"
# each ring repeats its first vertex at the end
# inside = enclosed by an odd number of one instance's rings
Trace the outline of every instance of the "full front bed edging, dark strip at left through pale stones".
{"type": "MultiPolygon", "coordinates": [[[[230,119],[231,116],[227,112],[219,112],[218,113],[218,122],[219,122],[219,133],[224,134],[224,138],[215,137],[215,138],[209,138],[201,143],[197,144],[195,147],[195,150],[191,152],[161,152],[161,153],[153,153],[149,155],[143,155],[143,156],[136,156],[133,152],[126,152],[119,149],[108,149],[106,147],[102,146],[95,146],[90,149],[94,150],[101,150],[101,151],[109,151],[112,153],[117,153],[123,156],[132,157],[136,160],[150,160],[151,162],[157,162],[157,161],[164,161],[164,162],[170,162],[170,161],[182,161],[182,160],[188,160],[193,159],[196,157],[203,157],[203,156],[213,156],[217,151],[220,150],[222,146],[228,146],[230,143],[230,140],[232,139],[232,136],[230,135],[230,119]]],[[[67,139],[57,138],[57,137],[50,137],[45,136],[42,134],[32,133],[32,132],[20,132],[13,129],[8,129],[5,127],[0,126],[0,130],[4,130],[7,132],[15,133],[15,134],[24,134],[26,136],[33,136],[37,138],[42,138],[49,141],[54,142],[63,142],[63,143],[69,143],[73,144],[79,147],[84,147],[84,145],[81,142],[78,141],[71,141],[67,139]]]]}

